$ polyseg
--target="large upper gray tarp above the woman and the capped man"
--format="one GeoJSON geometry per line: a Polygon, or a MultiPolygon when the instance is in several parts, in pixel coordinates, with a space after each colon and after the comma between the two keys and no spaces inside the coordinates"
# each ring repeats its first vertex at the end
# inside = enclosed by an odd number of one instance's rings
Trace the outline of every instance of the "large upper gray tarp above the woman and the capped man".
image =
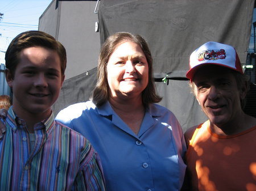
{"type": "Polygon", "coordinates": [[[207,41],[236,47],[245,63],[254,0],[103,0],[98,11],[101,43],[115,32],[147,39],[155,73],[185,77],[188,57],[207,41]]]}

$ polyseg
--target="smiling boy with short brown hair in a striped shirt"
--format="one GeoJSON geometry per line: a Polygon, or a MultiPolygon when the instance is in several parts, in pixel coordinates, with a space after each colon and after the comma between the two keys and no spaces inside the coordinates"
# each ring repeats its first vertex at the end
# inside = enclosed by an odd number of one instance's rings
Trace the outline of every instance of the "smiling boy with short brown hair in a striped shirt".
{"type": "Polygon", "coordinates": [[[1,190],[105,190],[93,147],[54,120],[51,106],[67,63],[64,46],[47,33],[27,31],[11,41],[5,60],[13,106],[0,139],[1,190]]]}

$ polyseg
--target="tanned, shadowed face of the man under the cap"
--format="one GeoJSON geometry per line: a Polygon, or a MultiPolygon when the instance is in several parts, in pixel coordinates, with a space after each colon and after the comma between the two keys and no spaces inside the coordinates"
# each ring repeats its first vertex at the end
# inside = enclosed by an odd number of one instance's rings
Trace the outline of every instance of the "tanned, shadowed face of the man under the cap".
{"type": "Polygon", "coordinates": [[[217,126],[232,124],[242,113],[234,74],[220,66],[204,66],[193,78],[195,95],[210,122],[217,126]]]}

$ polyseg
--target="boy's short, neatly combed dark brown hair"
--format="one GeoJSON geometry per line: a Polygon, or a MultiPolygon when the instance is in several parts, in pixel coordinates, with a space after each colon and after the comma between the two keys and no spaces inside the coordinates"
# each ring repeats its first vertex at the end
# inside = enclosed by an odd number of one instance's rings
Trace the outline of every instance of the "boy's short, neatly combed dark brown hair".
{"type": "Polygon", "coordinates": [[[55,50],[60,57],[61,74],[64,75],[67,66],[67,54],[64,46],[55,38],[42,31],[26,31],[16,36],[8,46],[5,54],[5,65],[14,77],[16,66],[20,62],[20,52],[23,49],[40,46],[55,50]]]}

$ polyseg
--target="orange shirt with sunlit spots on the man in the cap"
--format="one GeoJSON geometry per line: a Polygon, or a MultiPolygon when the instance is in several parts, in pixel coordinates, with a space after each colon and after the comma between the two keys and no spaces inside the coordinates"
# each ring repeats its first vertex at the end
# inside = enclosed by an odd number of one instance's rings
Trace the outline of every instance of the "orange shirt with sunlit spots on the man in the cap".
{"type": "Polygon", "coordinates": [[[256,126],[220,136],[208,120],[195,130],[186,158],[192,190],[256,191],[256,126]]]}

